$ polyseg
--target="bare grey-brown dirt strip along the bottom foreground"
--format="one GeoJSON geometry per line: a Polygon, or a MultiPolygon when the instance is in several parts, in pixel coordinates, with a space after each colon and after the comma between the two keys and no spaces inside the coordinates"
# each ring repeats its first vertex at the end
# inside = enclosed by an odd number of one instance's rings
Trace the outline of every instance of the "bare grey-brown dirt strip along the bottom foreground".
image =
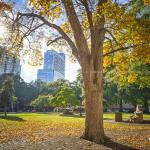
{"type": "MultiPolygon", "coordinates": [[[[117,146],[109,148],[78,137],[50,138],[47,141],[34,144],[27,144],[24,140],[18,140],[0,145],[0,150],[112,150],[114,148],[117,148],[117,146]]],[[[124,150],[127,150],[127,147],[124,150]]]]}

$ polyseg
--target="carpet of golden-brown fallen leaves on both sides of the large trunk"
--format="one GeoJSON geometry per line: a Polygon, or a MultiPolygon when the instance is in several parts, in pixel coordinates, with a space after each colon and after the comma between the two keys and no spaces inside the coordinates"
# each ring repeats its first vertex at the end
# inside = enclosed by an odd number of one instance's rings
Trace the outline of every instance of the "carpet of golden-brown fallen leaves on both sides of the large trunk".
{"type": "MultiPolygon", "coordinates": [[[[39,114],[38,114],[39,115],[39,114]]],[[[84,130],[84,119],[47,115],[38,117],[24,117],[25,121],[11,121],[0,119],[0,143],[25,140],[36,143],[51,137],[79,137],[84,130]]],[[[127,123],[106,122],[105,133],[114,141],[146,149],[150,145],[150,126],[127,123]]]]}

